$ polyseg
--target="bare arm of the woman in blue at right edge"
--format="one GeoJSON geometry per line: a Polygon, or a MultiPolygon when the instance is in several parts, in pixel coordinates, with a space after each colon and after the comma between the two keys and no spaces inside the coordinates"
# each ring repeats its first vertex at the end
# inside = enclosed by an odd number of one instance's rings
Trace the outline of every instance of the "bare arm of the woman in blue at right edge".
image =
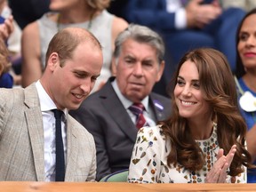
{"type": "Polygon", "coordinates": [[[256,124],[252,126],[252,129],[246,134],[247,150],[252,156],[252,163],[256,159],[256,124]]]}

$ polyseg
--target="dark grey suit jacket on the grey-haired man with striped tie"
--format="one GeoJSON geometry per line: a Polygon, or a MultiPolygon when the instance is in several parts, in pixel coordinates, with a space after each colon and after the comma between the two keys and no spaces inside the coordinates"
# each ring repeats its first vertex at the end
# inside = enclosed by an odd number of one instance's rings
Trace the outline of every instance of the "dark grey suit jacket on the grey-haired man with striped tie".
{"type": "MultiPolygon", "coordinates": [[[[96,142],[96,180],[111,172],[129,168],[138,132],[110,83],[112,79],[99,92],[84,100],[80,108],[70,111],[70,115],[92,133],[96,142]]],[[[170,115],[170,99],[156,93],[151,93],[149,98],[157,120],[164,120],[170,115]],[[164,110],[157,109],[154,100],[160,102],[164,110]]]]}

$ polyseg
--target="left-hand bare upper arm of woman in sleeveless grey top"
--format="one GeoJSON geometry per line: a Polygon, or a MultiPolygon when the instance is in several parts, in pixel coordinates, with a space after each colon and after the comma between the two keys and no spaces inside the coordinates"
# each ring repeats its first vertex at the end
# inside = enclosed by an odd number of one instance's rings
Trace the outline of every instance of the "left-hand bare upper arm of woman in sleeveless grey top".
{"type": "Polygon", "coordinates": [[[42,76],[39,31],[36,22],[23,29],[21,37],[22,86],[26,87],[42,76]]]}

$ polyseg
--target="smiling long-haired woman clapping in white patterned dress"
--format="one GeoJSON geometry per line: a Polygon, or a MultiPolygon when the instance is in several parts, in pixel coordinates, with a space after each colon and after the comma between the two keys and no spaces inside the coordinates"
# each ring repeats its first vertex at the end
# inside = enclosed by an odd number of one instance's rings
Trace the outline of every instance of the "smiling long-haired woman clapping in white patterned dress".
{"type": "Polygon", "coordinates": [[[245,183],[251,156],[226,57],[186,53],[172,87],[172,115],[138,132],[129,167],[134,183],[245,183]]]}

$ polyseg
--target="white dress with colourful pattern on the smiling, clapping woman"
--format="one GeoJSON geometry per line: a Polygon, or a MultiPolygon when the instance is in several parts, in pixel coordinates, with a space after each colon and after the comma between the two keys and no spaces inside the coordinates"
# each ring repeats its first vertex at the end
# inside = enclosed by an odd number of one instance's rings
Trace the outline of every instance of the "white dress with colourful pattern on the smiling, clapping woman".
{"type": "MultiPolygon", "coordinates": [[[[158,125],[143,127],[137,135],[132,151],[128,182],[136,183],[204,183],[209,172],[217,160],[219,145],[217,141],[217,125],[207,140],[196,140],[205,154],[205,164],[202,170],[191,172],[182,165],[167,165],[171,142],[165,140],[164,133],[158,125]]],[[[244,172],[236,177],[228,176],[229,183],[246,183],[246,167],[244,172]]]]}

